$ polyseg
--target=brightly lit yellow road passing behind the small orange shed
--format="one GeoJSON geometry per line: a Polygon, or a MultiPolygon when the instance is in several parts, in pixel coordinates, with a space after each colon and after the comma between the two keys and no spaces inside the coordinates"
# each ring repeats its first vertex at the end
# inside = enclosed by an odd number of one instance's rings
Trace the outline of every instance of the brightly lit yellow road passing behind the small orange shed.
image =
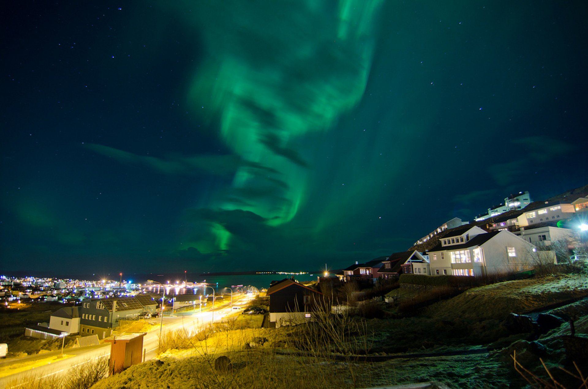
{"type": "MultiPolygon", "coordinates": [[[[250,296],[234,296],[233,305],[243,306],[251,298],[250,296]]],[[[198,333],[203,326],[212,322],[213,316],[216,322],[222,320],[223,317],[236,313],[240,313],[240,310],[232,310],[230,302],[227,300],[223,301],[223,303],[216,303],[215,310],[205,308],[202,312],[196,310],[182,312],[173,317],[164,316],[161,330],[165,333],[183,328],[189,334],[198,333]]],[[[157,356],[159,331],[160,327],[153,328],[143,338],[143,350],[146,361],[157,356]]],[[[105,343],[99,346],[66,348],[63,358],[61,357],[61,350],[59,350],[45,354],[36,354],[34,356],[7,359],[0,362],[0,368],[14,367],[15,373],[6,375],[3,372],[3,374],[0,374],[0,389],[26,388],[32,380],[48,378],[55,374],[63,374],[73,367],[98,360],[99,358],[109,358],[109,356],[110,344],[105,343]],[[25,363],[30,364],[31,368],[25,371],[19,371],[18,366],[25,363]]]]}

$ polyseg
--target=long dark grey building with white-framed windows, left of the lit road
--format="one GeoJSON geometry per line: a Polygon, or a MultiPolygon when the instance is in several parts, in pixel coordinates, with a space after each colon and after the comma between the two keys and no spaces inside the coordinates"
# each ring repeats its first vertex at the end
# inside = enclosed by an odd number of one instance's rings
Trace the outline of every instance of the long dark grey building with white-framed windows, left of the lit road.
{"type": "Polygon", "coordinates": [[[97,334],[103,339],[118,327],[119,320],[132,319],[142,313],[155,313],[157,301],[148,294],[135,297],[113,297],[112,299],[83,300],[80,307],[80,334],[97,334]]]}

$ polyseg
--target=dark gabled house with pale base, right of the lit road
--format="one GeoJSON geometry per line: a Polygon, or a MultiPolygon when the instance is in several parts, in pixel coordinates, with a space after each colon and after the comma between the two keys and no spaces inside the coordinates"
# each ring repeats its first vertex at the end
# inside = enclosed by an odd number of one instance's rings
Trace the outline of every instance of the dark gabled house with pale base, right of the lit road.
{"type": "Polygon", "coordinates": [[[276,327],[313,320],[313,307],[322,293],[294,280],[286,279],[270,286],[269,321],[276,327]]]}

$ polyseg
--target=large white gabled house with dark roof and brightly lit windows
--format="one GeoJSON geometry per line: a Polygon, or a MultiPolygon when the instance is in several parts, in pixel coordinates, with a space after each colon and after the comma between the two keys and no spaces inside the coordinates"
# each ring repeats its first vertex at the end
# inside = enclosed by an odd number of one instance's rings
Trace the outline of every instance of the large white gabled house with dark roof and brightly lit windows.
{"type": "Polygon", "coordinates": [[[536,264],[536,247],[532,243],[507,230],[480,230],[482,233],[469,230],[451,239],[443,237],[429,250],[431,274],[483,276],[524,270],[536,264]]]}

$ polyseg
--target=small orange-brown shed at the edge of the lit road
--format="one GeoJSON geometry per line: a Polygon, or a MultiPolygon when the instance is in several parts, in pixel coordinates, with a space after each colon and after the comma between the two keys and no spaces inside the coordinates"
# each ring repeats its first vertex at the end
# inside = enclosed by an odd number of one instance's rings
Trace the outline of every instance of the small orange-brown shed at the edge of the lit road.
{"type": "Polygon", "coordinates": [[[143,336],[147,333],[125,332],[104,341],[111,343],[111,357],[108,360],[109,375],[121,373],[131,365],[141,363],[143,336]]]}

